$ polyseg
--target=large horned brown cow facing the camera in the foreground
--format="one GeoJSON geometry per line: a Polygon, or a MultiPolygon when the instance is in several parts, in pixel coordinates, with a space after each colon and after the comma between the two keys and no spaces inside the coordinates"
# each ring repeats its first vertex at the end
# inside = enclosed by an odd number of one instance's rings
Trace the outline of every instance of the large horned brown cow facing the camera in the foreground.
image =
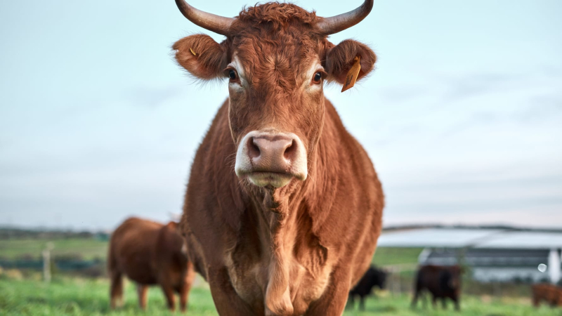
{"type": "Polygon", "coordinates": [[[348,88],[365,77],[376,56],[327,36],[360,22],[373,2],[332,18],[294,4],[248,7],[237,18],[176,4],[226,36],[174,44],[194,77],[229,80],[230,97],[195,155],[182,218],[218,313],[341,315],[369,268],[384,196],[323,93],[325,80],[348,88]]]}

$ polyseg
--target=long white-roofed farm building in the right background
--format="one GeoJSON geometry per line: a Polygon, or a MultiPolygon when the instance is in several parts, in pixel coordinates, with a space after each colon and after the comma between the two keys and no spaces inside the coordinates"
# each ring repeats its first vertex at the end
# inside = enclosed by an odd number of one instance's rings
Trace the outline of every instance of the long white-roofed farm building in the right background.
{"type": "Polygon", "coordinates": [[[426,228],[386,232],[379,247],[424,248],[419,264],[466,265],[481,282],[561,280],[562,232],[426,228]]]}

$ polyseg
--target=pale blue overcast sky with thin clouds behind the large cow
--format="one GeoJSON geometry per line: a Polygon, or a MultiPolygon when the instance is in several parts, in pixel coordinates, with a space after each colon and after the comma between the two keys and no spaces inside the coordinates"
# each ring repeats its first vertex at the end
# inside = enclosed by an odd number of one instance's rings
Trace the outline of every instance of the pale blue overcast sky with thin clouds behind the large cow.
{"type": "MultiPolygon", "coordinates": [[[[298,1],[318,15],[353,1],[298,1]]],[[[219,15],[254,2],[192,0],[219,15]],[[211,4],[212,2],[212,4],[211,4]]],[[[561,1],[375,1],[339,34],[377,53],[326,88],[384,185],[384,223],[562,227],[561,1]]],[[[170,46],[203,32],[168,1],[0,2],[0,225],[114,228],[179,213],[227,84],[170,46]]]]}

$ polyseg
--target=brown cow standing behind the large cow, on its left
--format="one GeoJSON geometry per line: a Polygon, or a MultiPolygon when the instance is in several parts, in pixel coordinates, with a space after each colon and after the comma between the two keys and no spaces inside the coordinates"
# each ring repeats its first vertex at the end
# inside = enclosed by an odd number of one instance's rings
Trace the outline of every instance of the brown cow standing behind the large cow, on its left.
{"type": "Polygon", "coordinates": [[[107,270],[111,277],[111,308],[122,301],[122,276],[126,275],[137,283],[141,308],[146,307],[148,286],[159,284],[169,309],[176,309],[176,291],[180,295],[181,310],[185,311],[195,277],[186,250],[178,225],[174,222],[162,225],[141,218],[125,220],[110,240],[107,270]]]}

